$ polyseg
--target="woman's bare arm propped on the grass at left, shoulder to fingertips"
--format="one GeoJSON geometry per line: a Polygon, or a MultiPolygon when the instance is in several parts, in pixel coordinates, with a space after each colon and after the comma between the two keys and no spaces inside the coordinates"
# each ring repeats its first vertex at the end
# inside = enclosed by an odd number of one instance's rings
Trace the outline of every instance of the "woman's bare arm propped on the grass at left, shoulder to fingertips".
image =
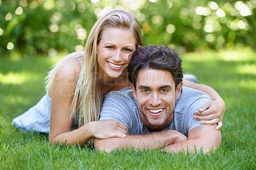
{"type": "Polygon", "coordinates": [[[72,68],[74,66],[63,66],[51,87],[50,143],[76,145],[85,144],[92,137],[125,137],[126,127],[113,120],[93,121],[71,131],[72,118],[69,111],[79,75],[79,72],[74,71],[77,68],[72,68]]]}

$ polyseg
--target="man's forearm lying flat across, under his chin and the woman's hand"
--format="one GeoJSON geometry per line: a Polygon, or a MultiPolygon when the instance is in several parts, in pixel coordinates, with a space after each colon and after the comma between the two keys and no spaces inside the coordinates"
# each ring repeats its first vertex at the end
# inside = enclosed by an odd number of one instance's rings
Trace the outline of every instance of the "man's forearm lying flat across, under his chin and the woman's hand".
{"type": "Polygon", "coordinates": [[[186,141],[188,137],[176,130],[165,130],[144,135],[127,135],[127,137],[111,137],[109,139],[94,138],[94,146],[100,151],[111,151],[118,148],[134,148],[140,150],[157,150],[163,146],[186,141]]]}

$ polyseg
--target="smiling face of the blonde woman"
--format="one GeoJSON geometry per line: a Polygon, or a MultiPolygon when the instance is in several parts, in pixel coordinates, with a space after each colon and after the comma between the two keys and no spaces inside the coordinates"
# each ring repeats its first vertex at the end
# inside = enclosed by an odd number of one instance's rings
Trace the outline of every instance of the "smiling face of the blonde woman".
{"type": "Polygon", "coordinates": [[[127,29],[109,27],[104,30],[97,45],[99,77],[119,77],[129,64],[135,44],[136,39],[127,29]]]}

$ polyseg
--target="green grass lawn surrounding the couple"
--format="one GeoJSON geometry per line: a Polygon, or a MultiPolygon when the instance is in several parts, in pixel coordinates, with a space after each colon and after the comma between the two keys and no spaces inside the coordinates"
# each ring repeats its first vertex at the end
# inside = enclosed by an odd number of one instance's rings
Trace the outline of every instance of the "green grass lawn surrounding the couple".
{"type": "Polygon", "coordinates": [[[181,56],[185,73],[226,102],[220,149],[211,155],[50,146],[48,135],[22,133],[12,119],[45,94],[44,77],[60,58],[0,58],[0,169],[256,169],[256,52],[250,49],[181,56]]]}

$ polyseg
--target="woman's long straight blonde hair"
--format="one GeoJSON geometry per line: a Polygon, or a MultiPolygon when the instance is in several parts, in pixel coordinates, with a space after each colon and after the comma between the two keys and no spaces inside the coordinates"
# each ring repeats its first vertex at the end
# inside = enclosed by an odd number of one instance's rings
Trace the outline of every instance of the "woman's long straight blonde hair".
{"type": "MultiPolygon", "coordinates": [[[[79,112],[79,127],[90,121],[99,120],[102,107],[102,94],[100,94],[97,83],[97,44],[100,41],[102,32],[108,27],[120,27],[131,31],[136,39],[136,48],[142,45],[140,24],[132,13],[126,10],[111,10],[100,17],[94,24],[88,36],[84,49],[84,63],[81,68],[76,90],[70,108],[70,116],[76,118],[79,112]]],[[[54,77],[61,66],[74,61],[74,58],[65,57],[61,59],[46,77],[46,89],[52,86],[54,77]]]]}

